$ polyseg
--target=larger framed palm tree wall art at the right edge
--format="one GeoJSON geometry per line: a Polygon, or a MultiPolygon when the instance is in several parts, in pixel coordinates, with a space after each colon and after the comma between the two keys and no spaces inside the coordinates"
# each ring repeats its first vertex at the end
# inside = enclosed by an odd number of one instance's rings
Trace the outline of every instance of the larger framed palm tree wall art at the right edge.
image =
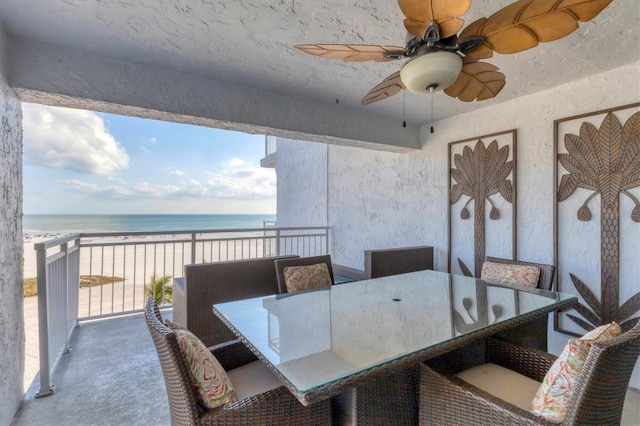
{"type": "MultiPolygon", "coordinates": [[[[561,315],[584,330],[611,321],[628,330],[639,320],[633,317],[640,310],[640,292],[633,293],[640,276],[639,106],[555,122],[556,262],[562,269],[560,279],[567,281],[561,291],[573,286],[582,298],[575,308],[579,316],[573,311],[561,315]],[[568,238],[573,243],[564,241],[568,238]],[[585,254],[599,260],[594,262],[599,264],[599,271],[595,267],[581,268],[569,260],[576,241],[598,247],[585,254]]],[[[556,317],[556,328],[562,330],[564,326],[558,321],[556,317]]]]}

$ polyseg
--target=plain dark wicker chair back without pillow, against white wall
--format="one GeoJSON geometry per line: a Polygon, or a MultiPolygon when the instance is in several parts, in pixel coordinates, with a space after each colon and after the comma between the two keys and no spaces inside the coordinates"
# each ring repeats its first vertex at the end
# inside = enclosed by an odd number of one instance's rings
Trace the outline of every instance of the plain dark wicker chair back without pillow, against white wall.
{"type": "Polygon", "coordinates": [[[365,250],[365,278],[380,278],[389,275],[433,269],[433,247],[397,247],[365,250]]]}

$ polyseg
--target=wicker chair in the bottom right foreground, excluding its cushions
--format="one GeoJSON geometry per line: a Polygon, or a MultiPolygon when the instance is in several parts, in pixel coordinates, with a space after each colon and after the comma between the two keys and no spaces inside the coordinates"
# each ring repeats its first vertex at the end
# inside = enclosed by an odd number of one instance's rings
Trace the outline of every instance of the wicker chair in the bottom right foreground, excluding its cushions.
{"type": "MultiPolygon", "coordinates": [[[[542,382],[554,356],[490,338],[486,350],[469,350],[430,360],[420,372],[421,425],[535,425],[540,417],[496,398],[454,376],[481,363],[494,363],[542,382]],[[482,354],[484,352],[484,354],[482,354]]],[[[571,397],[565,425],[620,424],[631,372],[640,353],[640,323],[591,347],[571,397]]],[[[533,399],[533,395],[531,395],[533,399]]]]}

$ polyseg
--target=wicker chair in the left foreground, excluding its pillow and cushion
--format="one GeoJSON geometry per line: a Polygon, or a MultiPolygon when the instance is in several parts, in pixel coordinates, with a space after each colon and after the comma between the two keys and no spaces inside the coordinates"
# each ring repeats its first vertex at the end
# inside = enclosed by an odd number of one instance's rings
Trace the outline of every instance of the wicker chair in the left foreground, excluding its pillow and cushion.
{"type": "MultiPolygon", "coordinates": [[[[164,325],[152,299],[147,301],[145,319],[162,366],[173,425],[331,424],[328,400],[305,407],[284,386],[225,404],[215,410],[203,411],[197,402],[195,384],[176,335],[164,325]]],[[[244,358],[246,352],[239,341],[210,349],[227,371],[249,362],[259,362],[255,358],[244,358]],[[240,352],[236,352],[237,347],[241,347],[240,352]]]]}

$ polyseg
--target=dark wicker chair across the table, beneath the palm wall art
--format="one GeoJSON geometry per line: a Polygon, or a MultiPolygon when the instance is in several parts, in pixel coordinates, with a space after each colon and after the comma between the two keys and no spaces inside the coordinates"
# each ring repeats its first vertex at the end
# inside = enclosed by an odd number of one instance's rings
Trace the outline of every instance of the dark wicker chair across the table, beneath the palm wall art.
{"type": "MultiPolygon", "coordinates": [[[[542,290],[551,290],[556,275],[556,267],[544,263],[523,262],[521,260],[502,259],[499,257],[487,256],[487,262],[505,263],[509,265],[527,265],[537,266],[540,268],[540,278],[538,279],[537,288],[542,290]]],[[[499,334],[500,337],[511,342],[517,342],[519,345],[527,348],[535,348],[543,352],[547,351],[547,317],[541,317],[534,321],[533,324],[524,324],[519,327],[511,328],[499,334]]]]}

